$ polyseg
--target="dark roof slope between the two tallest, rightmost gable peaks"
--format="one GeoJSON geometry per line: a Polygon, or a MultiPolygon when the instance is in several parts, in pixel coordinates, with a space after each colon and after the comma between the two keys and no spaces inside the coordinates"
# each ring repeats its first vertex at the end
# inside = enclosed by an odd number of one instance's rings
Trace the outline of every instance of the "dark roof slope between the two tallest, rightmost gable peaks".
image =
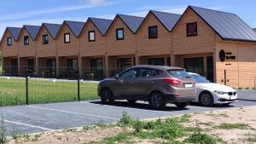
{"type": "Polygon", "coordinates": [[[166,27],[166,29],[171,32],[173,27],[176,25],[177,20],[181,17],[180,14],[171,14],[166,12],[160,12],[160,11],[154,11],[150,10],[149,13],[154,14],[154,16],[160,20],[163,26],[166,27]]]}

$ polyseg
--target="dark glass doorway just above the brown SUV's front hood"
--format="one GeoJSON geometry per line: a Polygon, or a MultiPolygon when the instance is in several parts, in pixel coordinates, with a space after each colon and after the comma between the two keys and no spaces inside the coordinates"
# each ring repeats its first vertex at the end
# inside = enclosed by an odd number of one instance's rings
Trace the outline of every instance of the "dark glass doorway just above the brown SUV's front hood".
{"type": "Polygon", "coordinates": [[[90,59],[90,72],[94,73],[95,80],[102,80],[104,78],[102,58],[90,59]]]}

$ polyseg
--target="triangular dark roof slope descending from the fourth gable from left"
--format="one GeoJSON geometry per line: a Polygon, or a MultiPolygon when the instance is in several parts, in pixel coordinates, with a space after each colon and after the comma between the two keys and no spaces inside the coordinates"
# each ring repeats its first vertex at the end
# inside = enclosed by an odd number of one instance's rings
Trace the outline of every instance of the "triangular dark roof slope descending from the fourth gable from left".
{"type": "Polygon", "coordinates": [[[84,22],[79,22],[79,21],[69,21],[65,20],[63,24],[66,23],[69,29],[73,32],[73,34],[76,37],[79,37],[80,32],[82,32],[82,29],[84,27],[84,22]]]}

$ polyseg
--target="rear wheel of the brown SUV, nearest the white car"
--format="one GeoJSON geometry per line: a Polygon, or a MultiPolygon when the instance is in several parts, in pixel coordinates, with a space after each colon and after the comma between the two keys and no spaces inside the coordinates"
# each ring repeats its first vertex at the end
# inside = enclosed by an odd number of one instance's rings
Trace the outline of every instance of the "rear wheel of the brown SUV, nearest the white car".
{"type": "Polygon", "coordinates": [[[161,110],[166,107],[166,100],[159,92],[154,92],[150,95],[149,104],[155,110],[161,110]]]}

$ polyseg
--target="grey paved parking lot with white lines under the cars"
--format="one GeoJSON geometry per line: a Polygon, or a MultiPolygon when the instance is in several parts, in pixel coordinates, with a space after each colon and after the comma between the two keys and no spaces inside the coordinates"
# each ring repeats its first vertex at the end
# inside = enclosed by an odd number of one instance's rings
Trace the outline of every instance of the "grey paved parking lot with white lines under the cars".
{"type": "Polygon", "coordinates": [[[0,114],[4,115],[8,135],[11,135],[14,130],[20,131],[20,134],[28,134],[99,123],[113,123],[119,121],[123,112],[128,112],[132,118],[143,119],[247,106],[256,106],[256,102],[237,101],[231,104],[230,107],[201,107],[192,105],[185,109],[177,109],[174,105],[168,105],[164,111],[154,111],[144,102],[129,104],[126,101],[118,101],[112,106],[107,106],[102,105],[100,101],[81,101],[1,107],[0,114]]]}

